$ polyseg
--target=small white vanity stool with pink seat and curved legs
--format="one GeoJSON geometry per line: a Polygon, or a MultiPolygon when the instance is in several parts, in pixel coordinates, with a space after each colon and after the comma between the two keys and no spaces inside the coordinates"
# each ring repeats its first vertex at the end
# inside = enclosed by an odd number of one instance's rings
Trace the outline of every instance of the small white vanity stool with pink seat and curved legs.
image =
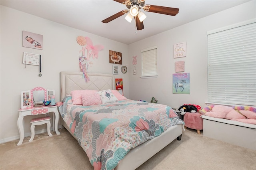
{"type": "Polygon", "coordinates": [[[51,132],[50,132],[50,127],[51,127],[51,123],[50,123],[50,116],[46,116],[46,117],[38,117],[38,118],[34,118],[34,119],[31,119],[30,123],[31,124],[31,127],[30,127],[30,130],[31,130],[31,138],[30,140],[28,140],[28,142],[32,142],[32,140],[34,139],[34,136],[35,136],[35,126],[36,125],[43,125],[46,123],[47,125],[47,133],[49,136],[52,136],[51,132]]]}

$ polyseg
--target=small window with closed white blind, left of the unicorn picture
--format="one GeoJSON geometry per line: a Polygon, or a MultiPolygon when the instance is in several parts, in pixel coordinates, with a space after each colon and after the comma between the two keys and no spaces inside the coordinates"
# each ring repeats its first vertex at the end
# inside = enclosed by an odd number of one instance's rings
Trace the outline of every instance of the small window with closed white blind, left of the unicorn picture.
{"type": "Polygon", "coordinates": [[[141,51],[142,78],[157,76],[157,47],[150,47],[141,51]]]}

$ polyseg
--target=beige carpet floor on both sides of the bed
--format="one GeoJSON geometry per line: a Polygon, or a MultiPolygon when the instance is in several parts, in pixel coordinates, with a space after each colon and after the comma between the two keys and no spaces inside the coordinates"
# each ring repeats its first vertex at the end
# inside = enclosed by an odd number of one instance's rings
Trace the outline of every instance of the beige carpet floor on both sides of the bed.
{"type": "MultiPolygon", "coordinates": [[[[202,131],[201,131],[202,132],[202,131]]],[[[65,129],[0,144],[1,170],[93,170],[78,142],[65,129]]],[[[186,129],[137,170],[255,170],[256,151],[210,139],[186,129]]]]}

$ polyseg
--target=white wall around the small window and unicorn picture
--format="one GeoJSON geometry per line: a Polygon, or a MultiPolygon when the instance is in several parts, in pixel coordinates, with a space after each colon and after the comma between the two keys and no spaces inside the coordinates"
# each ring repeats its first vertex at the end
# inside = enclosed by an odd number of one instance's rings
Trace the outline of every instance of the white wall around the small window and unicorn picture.
{"type": "MultiPolygon", "coordinates": [[[[188,16],[189,17],[189,16],[188,16]]],[[[130,99],[158,103],[178,108],[184,103],[206,107],[207,101],[207,36],[206,32],[244,20],[256,18],[256,1],[224,10],[205,18],[184,24],[172,30],[129,45],[129,55],[137,57],[137,75],[130,74],[130,99]],[[173,58],[173,45],[186,42],[186,57],[173,58]],[[141,49],[157,45],[158,78],[141,79],[141,49]],[[185,73],[190,73],[190,95],[172,94],[174,63],[185,61],[185,73]]],[[[132,59],[130,68],[133,69],[132,59]]]]}

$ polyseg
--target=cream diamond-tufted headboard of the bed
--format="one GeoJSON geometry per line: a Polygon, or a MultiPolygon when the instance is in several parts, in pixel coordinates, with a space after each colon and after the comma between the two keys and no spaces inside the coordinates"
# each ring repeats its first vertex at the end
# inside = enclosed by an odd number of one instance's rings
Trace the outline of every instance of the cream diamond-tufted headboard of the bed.
{"type": "Polygon", "coordinates": [[[60,99],[64,99],[72,90],[107,90],[114,89],[114,75],[88,73],[90,82],[86,83],[82,72],[60,72],[60,99]]]}

